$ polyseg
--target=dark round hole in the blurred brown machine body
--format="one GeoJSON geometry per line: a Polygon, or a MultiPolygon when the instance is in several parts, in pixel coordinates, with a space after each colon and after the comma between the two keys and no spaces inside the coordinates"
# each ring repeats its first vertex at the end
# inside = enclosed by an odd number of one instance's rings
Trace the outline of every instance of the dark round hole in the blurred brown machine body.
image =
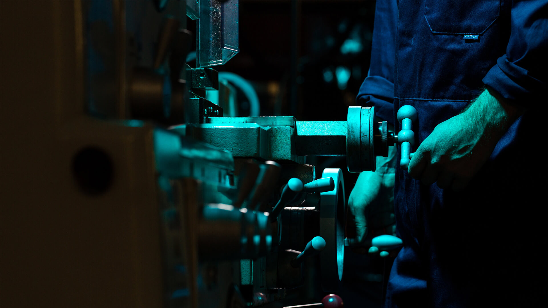
{"type": "Polygon", "coordinates": [[[72,172],[84,193],[100,195],[112,184],[114,168],[105,151],[97,147],[85,147],[74,156],[72,172]]]}

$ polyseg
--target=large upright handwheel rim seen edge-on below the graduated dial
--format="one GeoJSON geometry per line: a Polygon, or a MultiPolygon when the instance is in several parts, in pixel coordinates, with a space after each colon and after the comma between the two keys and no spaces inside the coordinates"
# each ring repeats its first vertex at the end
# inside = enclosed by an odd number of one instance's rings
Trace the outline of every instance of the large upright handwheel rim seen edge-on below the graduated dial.
{"type": "Polygon", "coordinates": [[[320,193],[319,236],[326,240],[327,245],[319,258],[322,288],[326,292],[334,292],[343,279],[346,198],[342,170],[324,169],[322,178],[328,177],[333,178],[335,189],[320,193]]]}

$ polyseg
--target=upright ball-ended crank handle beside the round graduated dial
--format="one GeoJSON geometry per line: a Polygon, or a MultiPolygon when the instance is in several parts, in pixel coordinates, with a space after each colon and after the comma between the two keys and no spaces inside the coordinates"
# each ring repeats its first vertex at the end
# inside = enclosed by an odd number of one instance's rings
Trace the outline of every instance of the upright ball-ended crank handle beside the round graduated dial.
{"type": "Polygon", "coordinates": [[[398,133],[398,143],[402,146],[402,158],[399,161],[399,167],[407,170],[411,160],[411,148],[415,144],[415,133],[413,132],[413,122],[416,122],[417,113],[415,107],[404,105],[399,107],[398,121],[402,125],[402,130],[398,133]]]}

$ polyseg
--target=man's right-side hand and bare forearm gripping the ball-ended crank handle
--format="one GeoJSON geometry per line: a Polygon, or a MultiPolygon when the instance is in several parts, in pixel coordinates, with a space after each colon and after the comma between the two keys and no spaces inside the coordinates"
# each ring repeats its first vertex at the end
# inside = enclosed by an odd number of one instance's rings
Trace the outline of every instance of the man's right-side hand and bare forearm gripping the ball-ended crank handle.
{"type": "MultiPolygon", "coordinates": [[[[403,115],[404,107],[398,111],[399,121],[400,112],[402,119],[407,117],[403,115]]],[[[522,106],[487,88],[459,115],[437,124],[412,153],[409,166],[402,167],[425,185],[436,182],[441,189],[463,190],[523,112],[522,106]]],[[[401,135],[398,140],[402,140],[401,135]]]]}

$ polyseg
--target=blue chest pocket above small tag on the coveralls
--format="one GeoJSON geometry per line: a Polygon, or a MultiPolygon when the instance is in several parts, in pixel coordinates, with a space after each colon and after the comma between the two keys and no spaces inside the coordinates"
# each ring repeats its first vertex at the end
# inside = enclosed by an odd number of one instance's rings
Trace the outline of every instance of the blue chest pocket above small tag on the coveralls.
{"type": "Polygon", "coordinates": [[[495,22],[499,1],[426,1],[424,18],[432,33],[479,35],[495,22]]]}

